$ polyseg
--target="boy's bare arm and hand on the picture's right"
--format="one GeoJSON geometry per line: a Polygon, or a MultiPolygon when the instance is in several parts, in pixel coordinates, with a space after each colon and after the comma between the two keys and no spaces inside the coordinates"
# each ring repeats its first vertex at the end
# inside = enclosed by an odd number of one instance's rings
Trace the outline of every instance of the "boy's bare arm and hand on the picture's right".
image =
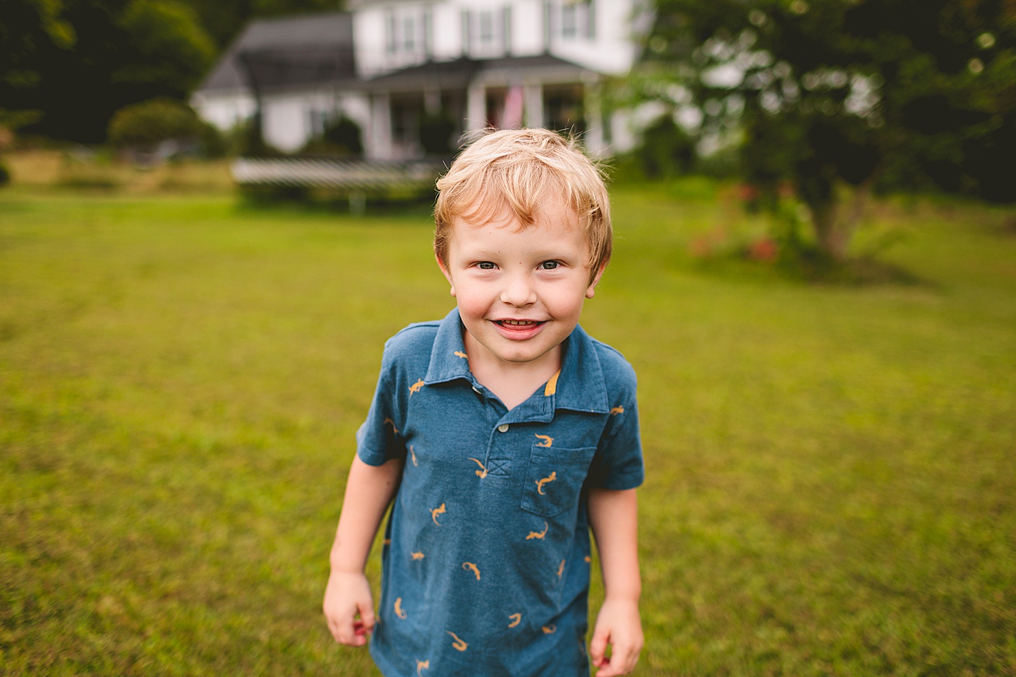
{"type": "Polygon", "coordinates": [[[638,600],[638,501],[634,489],[589,490],[589,524],[596,538],[604,572],[604,606],[596,616],[589,654],[599,668],[596,677],[625,675],[642,651],[638,600]],[[606,658],[611,644],[611,658],[606,658]]]}

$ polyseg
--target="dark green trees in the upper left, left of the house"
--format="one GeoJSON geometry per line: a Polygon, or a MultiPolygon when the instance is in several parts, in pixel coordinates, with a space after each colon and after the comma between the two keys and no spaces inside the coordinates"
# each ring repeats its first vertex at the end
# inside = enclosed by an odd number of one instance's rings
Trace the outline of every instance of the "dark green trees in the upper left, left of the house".
{"type": "Polygon", "coordinates": [[[6,1],[0,39],[16,49],[14,66],[2,68],[0,102],[40,112],[26,132],[103,141],[114,111],[186,98],[214,58],[193,11],[177,0],[9,0],[19,8],[11,14],[6,1]],[[48,37],[53,25],[58,39],[48,37]]]}

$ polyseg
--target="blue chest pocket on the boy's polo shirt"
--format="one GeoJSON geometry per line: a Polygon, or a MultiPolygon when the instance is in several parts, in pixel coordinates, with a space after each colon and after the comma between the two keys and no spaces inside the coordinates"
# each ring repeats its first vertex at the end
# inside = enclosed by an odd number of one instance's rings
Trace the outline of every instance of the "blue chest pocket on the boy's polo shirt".
{"type": "Polygon", "coordinates": [[[594,446],[566,449],[533,445],[522,490],[522,509],[553,517],[577,505],[595,453],[594,446]]]}

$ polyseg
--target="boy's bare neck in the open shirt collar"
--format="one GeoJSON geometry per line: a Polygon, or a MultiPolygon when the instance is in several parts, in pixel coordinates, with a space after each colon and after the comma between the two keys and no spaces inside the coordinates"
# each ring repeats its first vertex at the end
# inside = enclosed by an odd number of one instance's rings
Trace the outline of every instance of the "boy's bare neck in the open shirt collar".
{"type": "Polygon", "coordinates": [[[509,410],[528,399],[536,388],[561,370],[563,350],[560,345],[531,362],[505,362],[490,355],[464,329],[462,343],[469,360],[469,371],[481,385],[496,394],[509,410]]]}

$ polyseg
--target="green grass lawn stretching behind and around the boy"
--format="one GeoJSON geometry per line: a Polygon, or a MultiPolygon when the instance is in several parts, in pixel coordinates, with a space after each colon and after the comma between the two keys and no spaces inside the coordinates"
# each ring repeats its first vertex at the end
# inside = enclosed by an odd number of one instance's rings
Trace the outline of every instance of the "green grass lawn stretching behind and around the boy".
{"type": "MultiPolygon", "coordinates": [[[[758,227],[711,186],[614,196],[583,324],[640,376],[636,674],[1016,674],[1007,214],[880,204],[916,282],[821,286],[690,256],[758,227]]],[[[382,344],[453,301],[430,235],[0,192],[0,674],[377,675],[320,603],[382,344]]]]}

